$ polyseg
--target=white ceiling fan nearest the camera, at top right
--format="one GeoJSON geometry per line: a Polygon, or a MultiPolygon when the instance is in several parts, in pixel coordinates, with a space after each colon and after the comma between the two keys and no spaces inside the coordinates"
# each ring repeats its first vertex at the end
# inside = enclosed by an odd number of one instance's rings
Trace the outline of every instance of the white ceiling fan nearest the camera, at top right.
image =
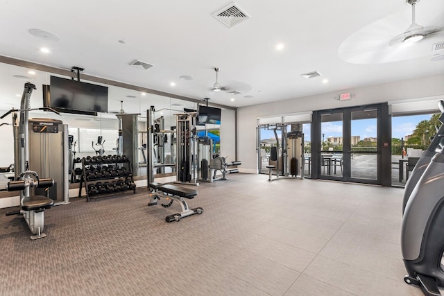
{"type": "Polygon", "coordinates": [[[411,6],[411,25],[404,31],[404,33],[393,37],[388,45],[396,47],[404,44],[413,44],[431,35],[441,32],[441,28],[438,27],[423,27],[415,22],[415,6],[420,0],[407,0],[407,3],[411,6]]]}

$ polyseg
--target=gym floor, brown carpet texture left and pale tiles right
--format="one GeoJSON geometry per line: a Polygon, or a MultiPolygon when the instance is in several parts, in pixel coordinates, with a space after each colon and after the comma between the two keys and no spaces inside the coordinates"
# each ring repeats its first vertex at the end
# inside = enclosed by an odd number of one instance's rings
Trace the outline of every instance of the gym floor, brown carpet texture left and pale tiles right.
{"type": "Polygon", "coordinates": [[[0,295],[422,295],[404,284],[402,189],[267,175],[187,186],[201,215],[146,189],[45,211],[46,238],[0,209],[0,295]]]}

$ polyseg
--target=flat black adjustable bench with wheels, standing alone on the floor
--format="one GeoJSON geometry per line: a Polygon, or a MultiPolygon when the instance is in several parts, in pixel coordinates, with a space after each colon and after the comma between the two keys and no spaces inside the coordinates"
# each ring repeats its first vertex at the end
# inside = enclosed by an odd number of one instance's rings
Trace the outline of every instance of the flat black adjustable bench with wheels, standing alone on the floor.
{"type": "Polygon", "coordinates": [[[170,207],[174,200],[180,203],[182,212],[167,216],[167,218],[165,218],[167,222],[180,221],[180,218],[203,213],[203,209],[201,207],[189,209],[187,202],[184,200],[184,198],[191,200],[197,195],[197,191],[194,189],[187,189],[176,185],[162,184],[157,182],[148,184],[148,188],[151,191],[151,200],[148,202],[148,206],[156,205],[160,198],[167,198],[167,200],[171,199],[169,204],[162,204],[162,207],[170,207]]]}

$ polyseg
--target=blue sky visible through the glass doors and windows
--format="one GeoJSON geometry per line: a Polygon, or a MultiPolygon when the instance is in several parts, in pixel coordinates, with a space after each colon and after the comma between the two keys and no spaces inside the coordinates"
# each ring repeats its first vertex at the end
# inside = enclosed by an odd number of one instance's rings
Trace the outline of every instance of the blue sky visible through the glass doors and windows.
{"type": "MultiPolygon", "coordinates": [[[[412,134],[416,125],[423,120],[429,120],[431,114],[425,115],[411,115],[411,116],[396,116],[392,117],[392,138],[401,139],[412,134]]],[[[360,136],[361,140],[368,137],[377,137],[377,120],[376,119],[361,119],[352,121],[352,136],[360,136]]],[[[325,141],[327,137],[342,137],[342,121],[324,122],[321,125],[322,132],[325,134],[325,141]]],[[[310,123],[302,125],[302,132],[304,132],[305,141],[310,140],[310,123]]],[[[278,137],[280,133],[278,132],[278,137]]],[[[262,130],[261,139],[274,139],[273,130],[262,130]]]]}

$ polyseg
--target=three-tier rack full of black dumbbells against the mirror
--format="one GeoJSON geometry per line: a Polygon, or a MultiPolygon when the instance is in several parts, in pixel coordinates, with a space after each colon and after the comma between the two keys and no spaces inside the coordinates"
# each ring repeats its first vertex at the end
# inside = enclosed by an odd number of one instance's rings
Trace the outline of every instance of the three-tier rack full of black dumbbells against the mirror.
{"type": "Polygon", "coordinates": [[[82,174],[78,197],[85,188],[86,198],[104,198],[132,190],[136,193],[133,169],[125,156],[108,155],[103,157],[84,157],[81,159],[82,174]]]}

